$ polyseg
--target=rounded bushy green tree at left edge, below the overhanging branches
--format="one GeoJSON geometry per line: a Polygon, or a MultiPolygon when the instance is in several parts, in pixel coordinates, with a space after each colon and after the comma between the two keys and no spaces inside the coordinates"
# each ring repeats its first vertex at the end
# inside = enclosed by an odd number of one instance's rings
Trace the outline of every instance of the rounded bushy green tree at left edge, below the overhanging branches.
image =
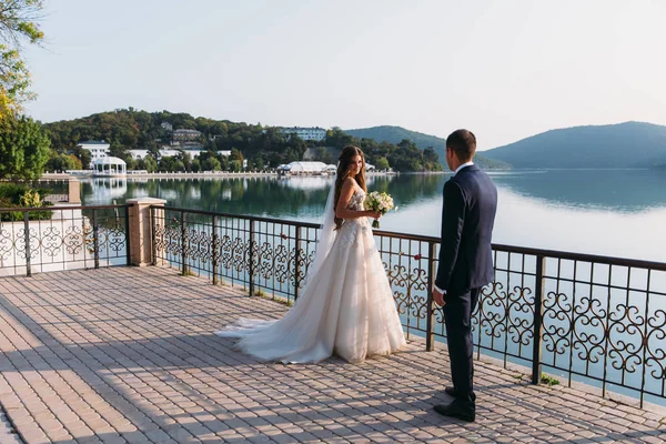
{"type": "Polygon", "coordinates": [[[0,120],[0,179],[38,179],[49,161],[49,138],[27,117],[0,120]]]}

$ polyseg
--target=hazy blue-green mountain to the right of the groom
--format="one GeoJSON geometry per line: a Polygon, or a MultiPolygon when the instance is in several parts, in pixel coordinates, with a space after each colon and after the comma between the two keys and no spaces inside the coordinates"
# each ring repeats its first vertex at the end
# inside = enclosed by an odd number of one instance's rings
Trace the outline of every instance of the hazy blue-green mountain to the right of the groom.
{"type": "Polygon", "coordinates": [[[666,164],[666,127],[624,122],[551,130],[483,155],[514,168],[653,168],[666,164]]]}

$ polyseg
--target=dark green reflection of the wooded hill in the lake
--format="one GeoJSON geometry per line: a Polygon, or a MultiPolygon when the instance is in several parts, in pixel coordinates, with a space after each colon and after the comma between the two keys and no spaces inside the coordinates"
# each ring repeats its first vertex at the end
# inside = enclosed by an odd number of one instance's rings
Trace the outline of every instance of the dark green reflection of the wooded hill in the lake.
{"type": "MultiPolygon", "coordinates": [[[[169,205],[216,212],[274,218],[319,219],[324,210],[333,178],[230,178],[230,179],[122,179],[123,184],[101,184],[99,178],[83,182],[84,204],[119,203],[152,196],[169,205]]],[[[410,174],[369,178],[370,190],[386,191],[398,204],[438,195],[442,175],[410,174]]]]}

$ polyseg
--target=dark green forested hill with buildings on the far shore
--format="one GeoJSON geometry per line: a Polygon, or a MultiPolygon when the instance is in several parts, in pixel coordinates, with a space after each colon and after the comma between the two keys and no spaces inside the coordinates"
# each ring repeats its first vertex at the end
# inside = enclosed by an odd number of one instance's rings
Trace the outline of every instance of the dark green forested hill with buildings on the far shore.
{"type": "MultiPolygon", "coordinates": [[[[334,163],[334,152],[347,144],[361,147],[369,163],[377,170],[392,168],[396,171],[441,171],[442,165],[434,149],[420,150],[415,143],[401,140],[398,143],[375,142],[372,139],[360,140],[332,128],[321,141],[304,141],[295,134],[287,134],[278,127],[263,127],[229,120],[194,118],[186,113],[169,111],[147,112],[130,109],[119,109],[101,112],[85,118],[46,123],[46,132],[51,141],[53,158],[64,158],[68,154],[77,157],[83,168],[84,150],[77,144],[87,141],[104,140],[111,144],[111,155],[122,158],[129,169],[159,169],[161,171],[199,171],[231,169],[239,170],[243,160],[248,168],[262,170],[275,168],[283,163],[301,161],[307,149],[314,152],[314,158],[324,163],[334,163]],[[176,130],[195,130],[193,138],[186,142],[175,140],[176,130]],[[204,152],[192,159],[185,148],[198,145],[204,152]],[[183,148],[178,157],[163,157],[162,147],[171,149],[183,148]],[[129,150],[148,150],[149,157],[134,161],[129,150]],[[314,149],[314,150],[313,150],[314,149]],[[220,151],[231,151],[230,157],[220,151]],[[159,164],[155,162],[159,160],[159,164]],[[229,163],[229,164],[228,164],[229,163]]],[[[179,137],[180,139],[180,137],[179,137]]],[[[53,163],[51,169],[73,169],[71,165],[53,163]]]]}

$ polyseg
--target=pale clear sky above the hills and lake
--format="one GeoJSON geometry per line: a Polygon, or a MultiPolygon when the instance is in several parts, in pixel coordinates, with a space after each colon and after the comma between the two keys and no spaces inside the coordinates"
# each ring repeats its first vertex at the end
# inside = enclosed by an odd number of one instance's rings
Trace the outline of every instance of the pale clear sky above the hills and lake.
{"type": "Polygon", "coordinates": [[[275,127],[400,125],[478,149],[666,125],[664,0],[46,0],[42,122],[133,107],[275,127]]]}

